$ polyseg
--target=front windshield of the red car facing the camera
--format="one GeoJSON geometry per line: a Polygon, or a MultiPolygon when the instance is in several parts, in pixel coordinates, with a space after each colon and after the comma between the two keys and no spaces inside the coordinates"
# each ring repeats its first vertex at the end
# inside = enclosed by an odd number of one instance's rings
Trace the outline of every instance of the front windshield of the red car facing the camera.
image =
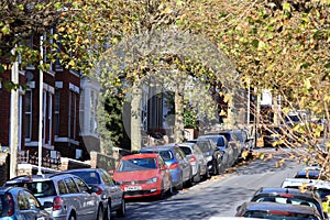
{"type": "Polygon", "coordinates": [[[157,168],[156,158],[131,158],[121,161],[117,172],[134,172],[155,168],[157,168]]]}

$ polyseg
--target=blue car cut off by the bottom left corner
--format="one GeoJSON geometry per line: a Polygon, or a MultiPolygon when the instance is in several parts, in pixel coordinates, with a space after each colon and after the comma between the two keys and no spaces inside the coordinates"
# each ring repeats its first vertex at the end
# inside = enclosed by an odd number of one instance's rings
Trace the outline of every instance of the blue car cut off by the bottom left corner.
{"type": "Polygon", "coordinates": [[[30,190],[22,187],[2,187],[0,188],[0,219],[48,220],[51,218],[30,190]]]}

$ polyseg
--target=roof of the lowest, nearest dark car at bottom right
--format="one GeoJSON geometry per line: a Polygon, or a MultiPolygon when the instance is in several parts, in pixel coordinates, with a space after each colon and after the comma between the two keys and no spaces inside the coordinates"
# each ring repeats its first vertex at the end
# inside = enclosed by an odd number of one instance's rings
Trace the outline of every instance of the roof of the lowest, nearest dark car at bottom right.
{"type": "Polygon", "coordinates": [[[318,210],[310,206],[297,206],[290,204],[277,204],[277,202],[245,202],[246,210],[250,211],[292,211],[298,213],[314,213],[319,216],[318,210]]]}

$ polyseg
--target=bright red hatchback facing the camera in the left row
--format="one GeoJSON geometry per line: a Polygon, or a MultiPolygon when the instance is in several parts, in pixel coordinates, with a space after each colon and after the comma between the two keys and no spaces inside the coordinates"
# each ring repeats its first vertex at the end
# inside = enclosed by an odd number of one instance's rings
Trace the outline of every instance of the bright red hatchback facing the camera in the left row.
{"type": "Polygon", "coordinates": [[[172,176],[162,156],[156,153],[123,156],[113,179],[124,191],[124,198],[172,194],[172,176]]]}

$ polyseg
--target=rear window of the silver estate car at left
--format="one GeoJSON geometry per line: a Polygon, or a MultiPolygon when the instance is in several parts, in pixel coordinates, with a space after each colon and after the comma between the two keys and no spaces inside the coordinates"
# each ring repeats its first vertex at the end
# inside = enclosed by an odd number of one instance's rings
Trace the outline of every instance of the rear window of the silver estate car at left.
{"type": "Polygon", "coordinates": [[[29,182],[29,183],[14,183],[10,186],[19,186],[28,188],[35,197],[56,196],[55,187],[52,180],[43,182],[29,182]]]}

